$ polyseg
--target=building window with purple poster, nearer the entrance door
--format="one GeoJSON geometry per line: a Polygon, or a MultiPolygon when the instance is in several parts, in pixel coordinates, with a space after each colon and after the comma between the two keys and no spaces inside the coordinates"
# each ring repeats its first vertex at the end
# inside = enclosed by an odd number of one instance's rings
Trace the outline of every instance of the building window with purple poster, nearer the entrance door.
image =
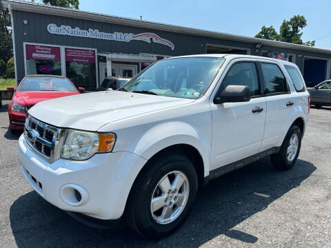
{"type": "Polygon", "coordinates": [[[96,90],[95,50],[64,48],[66,76],[76,87],[96,90]]]}

